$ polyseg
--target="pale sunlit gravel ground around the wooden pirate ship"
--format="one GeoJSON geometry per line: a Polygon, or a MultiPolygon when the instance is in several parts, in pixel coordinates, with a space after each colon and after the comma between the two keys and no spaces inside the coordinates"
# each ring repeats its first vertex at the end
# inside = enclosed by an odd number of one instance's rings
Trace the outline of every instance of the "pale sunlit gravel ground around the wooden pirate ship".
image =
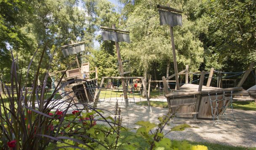
{"type": "MultiPolygon", "coordinates": [[[[151,101],[163,101],[163,99],[150,99],[151,101]]],[[[123,104],[123,103],[120,103],[123,104]]],[[[120,105],[119,104],[119,105],[120,105]]],[[[104,101],[99,103],[98,108],[106,109],[114,113],[115,101],[104,101]]],[[[136,106],[126,109],[121,107],[121,116],[123,118],[122,125],[129,128],[138,128],[134,124],[137,121],[149,121],[159,123],[158,117],[163,116],[168,112],[168,109],[152,107],[152,112],[149,113],[147,106],[136,106]]],[[[226,114],[231,114],[231,109],[227,109],[226,114]]],[[[256,147],[256,111],[245,111],[234,109],[236,122],[233,122],[232,116],[227,116],[228,122],[225,122],[224,117],[213,125],[213,120],[200,119],[200,124],[190,124],[193,127],[187,128],[184,131],[174,131],[166,135],[173,140],[189,140],[195,142],[211,142],[231,146],[256,147]]],[[[108,116],[108,113],[104,115],[108,116]]],[[[172,121],[171,121],[172,122],[172,121]]],[[[178,124],[172,124],[165,127],[164,132],[168,132],[171,127],[178,124]]]]}

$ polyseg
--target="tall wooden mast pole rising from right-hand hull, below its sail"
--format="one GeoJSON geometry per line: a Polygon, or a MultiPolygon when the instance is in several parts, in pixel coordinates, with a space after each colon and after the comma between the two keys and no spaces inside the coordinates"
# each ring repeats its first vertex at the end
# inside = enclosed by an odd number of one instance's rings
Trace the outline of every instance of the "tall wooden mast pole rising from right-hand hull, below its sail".
{"type": "Polygon", "coordinates": [[[177,67],[176,52],[175,52],[175,45],[174,45],[174,36],[173,36],[173,27],[172,26],[170,26],[170,34],[171,34],[171,47],[172,47],[172,51],[173,51],[173,64],[174,64],[174,72],[175,72],[175,80],[176,80],[176,90],[179,90],[178,67],[177,67]]]}

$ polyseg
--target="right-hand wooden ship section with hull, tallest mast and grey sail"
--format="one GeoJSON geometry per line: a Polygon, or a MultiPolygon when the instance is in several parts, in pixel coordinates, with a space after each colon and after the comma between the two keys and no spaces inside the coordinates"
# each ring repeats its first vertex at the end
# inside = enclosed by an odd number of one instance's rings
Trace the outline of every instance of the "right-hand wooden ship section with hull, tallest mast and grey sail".
{"type": "MultiPolygon", "coordinates": [[[[250,65],[248,70],[246,70],[240,82],[235,88],[215,88],[210,87],[211,79],[213,76],[213,68],[209,72],[208,82],[206,86],[203,86],[203,81],[205,78],[205,72],[202,71],[200,75],[200,83],[189,84],[188,83],[188,66],[186,69],[178,72],[176,53],[173,37],[173,26],[182,25],[181,10],[175,8],[166,7],[162,5],[157,5],[160,14],[160,25],[167,24],[170,26],[171,33],[171,44],[173,52],[173,62],[175,74],[169,77],[163,77],[163,85],[165,91],[165,97],[167,98],[168,107],[175,116],[179,117],[197,117],[197,118],[213,118],[219,117],[225,113],[225,110],[232,103],[233,96],[236,95],[250,95],[251,93],[243,90],[241,87],[248,77],[249,73],[253,68],[253,63],[250,65]],[[179,87],[179,78],[181,74],[186,75],[186,84],[179,87]],[[166,80],[175,77],[176,80],[176,90],[169,93],[169,85],[166,80]]],[[[186,122],[176,122],[176,123],[186,123],[186,122]]],[[[198,121],[189,121],[187,123],[199,123],[198,121]]]]}

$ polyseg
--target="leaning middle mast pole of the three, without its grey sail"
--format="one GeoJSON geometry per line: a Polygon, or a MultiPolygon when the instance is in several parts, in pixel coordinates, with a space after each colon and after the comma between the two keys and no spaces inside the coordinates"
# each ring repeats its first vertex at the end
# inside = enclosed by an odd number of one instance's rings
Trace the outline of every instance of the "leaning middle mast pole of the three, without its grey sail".
{"type": "MultiPolygon", "coordinates": [[[[112,25],[112,28],[115,29],[115,24],[112,25]]],[[[116,33],[116,36],[117,36],[117,32],[115,32],[115,33],[116,33]]],[[[124,77],[123,63],[122,63],[122,59],[121,59],[121,54],[120,54],[118,41],[115,41],[115,48],[116,48],[116,51],[117,51],[117,60],[118,60],[120,76],[124,77]]],[[[124,95],[124,98],[125,98],[125,107],[128,107],[129,106],[129,103],[128,103],[129,101],[128,101],[128,96],[127,96],[127,88],[126,88],[126,85],[125,85],[125,80],[124,79],[121,79],[121,80],[122,80],[122,86],[123,86],[123,95],[124,95]]],[[[147,89],[146,89],[146,91],[147,91],[147,89]]]]}

